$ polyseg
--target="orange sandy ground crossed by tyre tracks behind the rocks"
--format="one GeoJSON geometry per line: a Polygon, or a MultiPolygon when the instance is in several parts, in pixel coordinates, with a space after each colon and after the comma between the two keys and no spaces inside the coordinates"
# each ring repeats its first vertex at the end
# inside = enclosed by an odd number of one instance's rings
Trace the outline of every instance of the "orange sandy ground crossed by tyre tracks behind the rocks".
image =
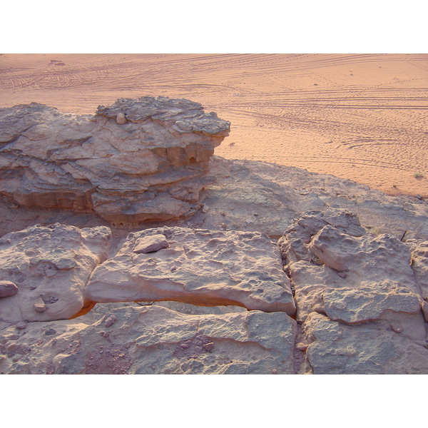
{"type": "Polygon", "coordinates": [[[426,54],[1,54],[0,107],[94,113],[188,98],[231,121],[215,154],[428,197],[426,54]]]}

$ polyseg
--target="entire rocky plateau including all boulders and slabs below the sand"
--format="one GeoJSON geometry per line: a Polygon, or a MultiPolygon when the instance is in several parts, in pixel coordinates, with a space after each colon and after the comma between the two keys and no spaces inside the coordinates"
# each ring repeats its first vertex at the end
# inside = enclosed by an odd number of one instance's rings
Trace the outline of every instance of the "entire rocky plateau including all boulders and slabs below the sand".
{"type": "Polygon", "coordinates": [[[0,109],[1,374],[428,374],[428,204],[213,156],[187,100],[0,109]]]}

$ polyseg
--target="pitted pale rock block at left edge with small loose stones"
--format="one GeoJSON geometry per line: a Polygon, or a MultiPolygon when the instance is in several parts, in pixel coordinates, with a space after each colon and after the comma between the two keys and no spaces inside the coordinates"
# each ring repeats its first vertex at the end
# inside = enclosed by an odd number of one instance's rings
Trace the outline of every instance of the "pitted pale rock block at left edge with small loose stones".
{"type": "Polygon", "coordinates": [[[110,229],[35,225],[0,238],[0,280],[19,292],[0,299],[0,320],[46,321],[72,317],[83,305],[83,287],[106,260],[110,229]]]}

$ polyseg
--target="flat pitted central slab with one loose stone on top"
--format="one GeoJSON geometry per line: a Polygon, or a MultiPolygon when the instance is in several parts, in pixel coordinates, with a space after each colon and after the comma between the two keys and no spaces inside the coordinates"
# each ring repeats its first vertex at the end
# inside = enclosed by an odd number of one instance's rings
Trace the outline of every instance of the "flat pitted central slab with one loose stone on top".
{"type": "Polygon", "coordinates": [[[279,250],[258,232],[164,227],[130,233],[117,255],[93,272],[85,296],[95,302],[175,300],[295,314],[279,250]],[[136,253],[142,240],[156,235],[163,235],[168,248],[136,253]]]}

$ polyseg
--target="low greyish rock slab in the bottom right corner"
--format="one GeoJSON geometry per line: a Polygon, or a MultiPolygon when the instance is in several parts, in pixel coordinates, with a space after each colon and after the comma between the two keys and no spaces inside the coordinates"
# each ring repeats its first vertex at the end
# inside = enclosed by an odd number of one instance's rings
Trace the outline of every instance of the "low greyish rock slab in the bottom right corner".
{"type": "Polygon", "coordinates": [[[312,312],[304,324],[314,374],[428,374],[428,350],[379,322],[345,325],[312,312]]]}

